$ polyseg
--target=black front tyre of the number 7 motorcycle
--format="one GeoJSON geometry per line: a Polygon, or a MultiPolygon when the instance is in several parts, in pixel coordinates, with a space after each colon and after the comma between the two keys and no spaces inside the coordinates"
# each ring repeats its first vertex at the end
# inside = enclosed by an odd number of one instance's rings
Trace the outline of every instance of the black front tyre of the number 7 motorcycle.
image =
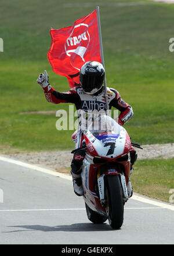
{"type": "Polygon", "coordinates": [[[124,220],[124,200],[119,175],[106,176],[107,214],[111,228],[119,229],[124,220]]]}

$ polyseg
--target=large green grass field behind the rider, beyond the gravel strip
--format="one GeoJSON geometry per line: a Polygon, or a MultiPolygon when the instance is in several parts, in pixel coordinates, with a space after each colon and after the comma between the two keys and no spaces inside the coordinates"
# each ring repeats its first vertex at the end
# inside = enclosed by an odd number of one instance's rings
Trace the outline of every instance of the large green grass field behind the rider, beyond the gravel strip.
{"type": "MultiPolygon", "coordinates": [[[[134,117],[125,128],[132,140],[174,142],[173,6],[144,1],[146,5],[116,6],[100,0],[100,19],[107,85],[118,89],[130,103],[134,117]]],[[[132,2],[132,1],[124,1],[132,2]]],[[[135,1],[133,1],[135,2],[135,1]]],[[[139,2],[139,1],[137,1],[139,2]]],[[[67,79],[53,73],[46,53],[49,30],[71,26],[92,12],[96,4],[72,1],[1,0],[0,37],[0,153],[73,149],[73,131],[57,131],[55,116],[21,115],[23,111],[68,110],[68,104],[46,102],[37,76],[48,70],[57,91],[69,89],[67,79]],[[79,6],[77,7],[77,3],[79,6]]]]}

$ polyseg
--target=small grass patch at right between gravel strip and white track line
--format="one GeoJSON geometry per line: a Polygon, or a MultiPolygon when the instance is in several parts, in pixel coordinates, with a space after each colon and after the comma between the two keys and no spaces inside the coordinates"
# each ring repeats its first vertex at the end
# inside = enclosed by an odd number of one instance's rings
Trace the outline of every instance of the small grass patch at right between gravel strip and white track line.
{"type": "Polygon", "coordinates": [[[133,191],[169,203],[174,188],[174,158],[137,160],[131,176],[133,191]]]}

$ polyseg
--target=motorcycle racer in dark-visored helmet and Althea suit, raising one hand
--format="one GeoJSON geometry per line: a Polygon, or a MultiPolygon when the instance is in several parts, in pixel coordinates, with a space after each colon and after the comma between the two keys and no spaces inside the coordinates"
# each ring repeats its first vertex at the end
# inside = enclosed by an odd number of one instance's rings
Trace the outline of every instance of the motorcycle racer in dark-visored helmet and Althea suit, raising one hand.
{"type": "MultiPolygon", "coordinates": [[[[39,74],[37,78],[38,84],[40,84],[44,90],[45,98],[48,102],[59,104],[59,103],[74,103],[77,110],[83,110],[85,113],[88,111],[106,111],[106,99],[104,95],[103,81],[105,77],[105,70],[101,63],[90,61],[86,62],[80,70],[79,80],[80,86],[71,88],[68,92],[57,92],[49,84],[49,77],[46,72],[39,74]]],[[[118,116],[118,124],[124,125],[125,122],[129,121],[133,117],[132,107],[122,100],[119,92],[113,88],[107,88],[108,106],[115,107],[120,111],[118,116]]],[[[75,148],[78,149],[82,146],[84,139],[81,124],[79,122],[79,129],[72,135],[75,141],[75,148]]],[[[133,172],[133,164],[136,161],[137,154],[135,149],[132,147],[131,154],[131,171],[133,172]]],[[[73,160],[71,162],[71,175],[73,176],[74,192],[78,196],[84,194],[81,184],[81,167],[85,157],[84,150],[79,150],[74,153],[73,160]]],[[[128,196],[132,196],[132,185],[129,179],[128,184],[128,196]]]]}

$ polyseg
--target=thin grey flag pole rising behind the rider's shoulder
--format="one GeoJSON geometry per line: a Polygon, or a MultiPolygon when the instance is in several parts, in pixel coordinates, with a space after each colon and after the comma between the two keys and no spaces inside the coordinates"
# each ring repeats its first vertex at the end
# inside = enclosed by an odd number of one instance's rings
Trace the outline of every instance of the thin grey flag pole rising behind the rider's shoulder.
{"type": "MultiPolygon", "coordinates": [[[[100,54],[102,58],[102,64],[104,67],[104,55],[103,55],[103,44],[102,44],[102,30],[101,30],[101,25],[100,25],[100,12],[99,12],[99,6],[96,7],[97,9],[97,21],[98,21],[98,29],[99,29],[99,40],[100,40],[100,54]]],[[[105,69],[105,67],[104,67],[105,69]]],[[[109,110],[108,106],[108,96],[107,96],[107,84],[106,84],[106,74],[104,76],[104,95],[106,99],[106,109],[109,110]]],[[[108,114],[108,111],[107,111],[108,114]]]]}

